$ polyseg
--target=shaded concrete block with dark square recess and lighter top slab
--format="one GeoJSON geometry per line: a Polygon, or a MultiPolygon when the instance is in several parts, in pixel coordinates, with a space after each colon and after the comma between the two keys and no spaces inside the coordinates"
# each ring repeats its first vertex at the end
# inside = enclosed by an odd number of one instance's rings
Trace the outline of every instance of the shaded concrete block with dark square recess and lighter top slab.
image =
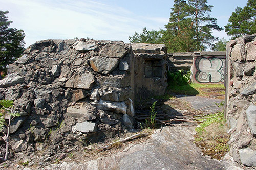
{"type": "Polygon", "coordinates": [[[135,59],[135,100],[163,95],[167,87],[166,48],[163,44],[132,44],[135,59]]]}

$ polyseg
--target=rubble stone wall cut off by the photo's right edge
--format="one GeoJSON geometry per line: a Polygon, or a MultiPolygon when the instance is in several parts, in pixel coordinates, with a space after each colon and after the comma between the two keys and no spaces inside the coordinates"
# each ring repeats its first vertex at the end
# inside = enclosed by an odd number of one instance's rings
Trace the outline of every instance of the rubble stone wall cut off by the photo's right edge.
{"type": "Polygon", "coordinates": [[[256,35],[227,44],[226,117],[230,155],[234,161],[256,166],[256,35]]]}

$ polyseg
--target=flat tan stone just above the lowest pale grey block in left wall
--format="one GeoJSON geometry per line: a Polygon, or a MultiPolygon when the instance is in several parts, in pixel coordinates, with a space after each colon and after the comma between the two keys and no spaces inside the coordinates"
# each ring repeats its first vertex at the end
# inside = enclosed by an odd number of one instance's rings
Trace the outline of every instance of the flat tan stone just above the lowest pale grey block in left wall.
{"type": "Polygon", "coordinates": [[[67,108],[67,115],[83,120],[95,120],[96,116],[90,113],[88,110],[88,108],[82,106],[80,106],[79,108],[71,106],[67,108]]]}

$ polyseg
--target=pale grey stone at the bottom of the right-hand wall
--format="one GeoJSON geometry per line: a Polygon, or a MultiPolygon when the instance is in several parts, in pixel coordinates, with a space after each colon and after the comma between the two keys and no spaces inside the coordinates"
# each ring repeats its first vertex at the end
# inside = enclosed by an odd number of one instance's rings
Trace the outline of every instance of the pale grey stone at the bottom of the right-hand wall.
{"type": "Polygon", "coordinates": [[[245,148],[239,150],[240,160],[246,166],[256,166],[256,151],[245,148]]]}

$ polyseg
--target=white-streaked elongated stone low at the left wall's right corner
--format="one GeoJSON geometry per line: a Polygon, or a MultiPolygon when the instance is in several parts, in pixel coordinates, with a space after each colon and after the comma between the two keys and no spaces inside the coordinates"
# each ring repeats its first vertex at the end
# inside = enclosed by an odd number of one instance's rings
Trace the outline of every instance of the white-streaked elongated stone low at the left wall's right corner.
{"type": "Polygon", "coordinates": [[[97,109],[101,109],[104,111],[113,111],[115,113],[123,113],[126,114],[127,105],[125,102],[111,102],[111,101],[104,101],[99,100],[98,103],[93,103],[97,109]]]}

